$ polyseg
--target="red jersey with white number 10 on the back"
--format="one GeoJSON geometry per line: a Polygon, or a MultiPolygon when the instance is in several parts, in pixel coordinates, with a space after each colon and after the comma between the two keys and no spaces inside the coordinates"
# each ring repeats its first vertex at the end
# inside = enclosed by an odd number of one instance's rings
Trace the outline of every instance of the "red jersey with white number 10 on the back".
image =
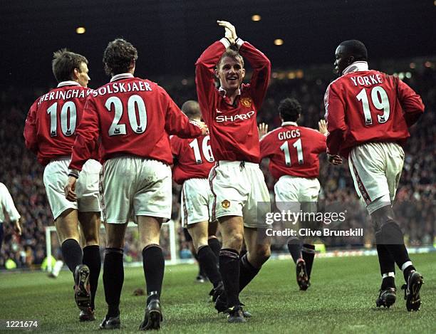
{"type": "Polygon", "coordinates": [[[33,103],[24,126],[24,140],[42,165],[71,155],[83,107],[92,91],[76,81],[63,81],[33,103]]]}

